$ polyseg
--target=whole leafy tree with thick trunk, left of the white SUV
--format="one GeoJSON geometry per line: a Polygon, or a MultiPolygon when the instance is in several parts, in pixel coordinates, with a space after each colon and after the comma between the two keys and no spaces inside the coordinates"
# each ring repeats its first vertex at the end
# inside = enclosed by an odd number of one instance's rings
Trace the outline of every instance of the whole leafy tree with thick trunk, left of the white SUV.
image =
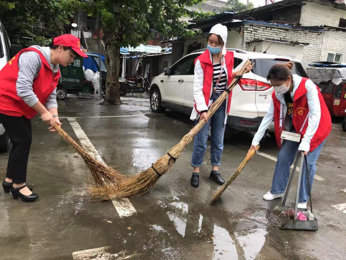
{"type": "Polygon", "coordinates": [[[89,15],[100,15],[103,41],[106,45],[106,100],[104,104],[120,104],[119,97],[119,50],[121,46],[138,46],[151,38],[152,30],[168,39],[176,36],[193,36],[188,23],[181,19],[207,18],[212,13],[189,7],[202,0],[94,0],[88,3],[89,15]]]}

